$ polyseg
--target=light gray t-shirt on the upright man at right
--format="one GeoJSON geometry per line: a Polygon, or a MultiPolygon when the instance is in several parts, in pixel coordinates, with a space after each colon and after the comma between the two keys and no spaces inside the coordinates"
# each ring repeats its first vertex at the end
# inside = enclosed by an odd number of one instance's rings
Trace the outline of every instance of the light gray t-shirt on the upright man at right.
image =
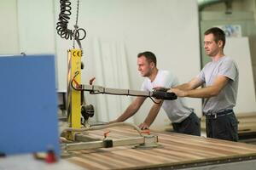
{"type": "Polygon", "coordinates": [[[205,99],[203,112],[206,114],[230,110],[236,105],[239,71],[233,59],[224,56],[218,61],[209,62],[197,77],[206,86],[211,86],[219,75],[228,77],[229,82],[217,96],[205,99]]]}

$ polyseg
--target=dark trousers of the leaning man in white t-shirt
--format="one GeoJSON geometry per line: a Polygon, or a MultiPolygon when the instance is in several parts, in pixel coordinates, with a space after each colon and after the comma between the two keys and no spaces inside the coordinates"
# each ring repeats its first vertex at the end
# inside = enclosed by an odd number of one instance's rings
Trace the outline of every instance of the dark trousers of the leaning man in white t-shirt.
{"type": "Polygon", "coordinates": [[[185,133],[195,136],[201,135],[200,119],[195,113],[191,113],[183,122],[173,122],[172,127],[176,133],[185,133]]]}

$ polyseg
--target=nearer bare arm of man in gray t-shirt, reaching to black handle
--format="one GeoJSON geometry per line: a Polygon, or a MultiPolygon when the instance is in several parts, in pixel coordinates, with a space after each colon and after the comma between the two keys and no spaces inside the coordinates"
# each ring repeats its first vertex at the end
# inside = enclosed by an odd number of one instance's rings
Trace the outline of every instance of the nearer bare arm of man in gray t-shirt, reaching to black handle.
{"type": "Polygon", "coordinates": [[[228,77],[218,76],[213,82],[212,86],[206,88],[192,89],[192,90],[180,90],[178,88],[171,88],[174,94],[178,97],[190,97],[190,98],[210,98],[217,96],[219,92],[225,87],[229,82],[228,77]]]}

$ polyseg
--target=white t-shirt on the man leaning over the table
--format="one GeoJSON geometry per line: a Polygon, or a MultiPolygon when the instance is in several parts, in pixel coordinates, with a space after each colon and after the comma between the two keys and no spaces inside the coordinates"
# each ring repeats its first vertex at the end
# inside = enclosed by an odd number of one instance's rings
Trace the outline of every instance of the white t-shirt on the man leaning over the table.
{"type": "MultiPolygon", "coordinates": [[[[148,77],[144,80],[142,90],[152,91],[153,88],[173,88],[177,85],[177,77],[170,71],[159,70],[153,82],[148,77]]],[[[182,122],[192,112],[192,109],[186,105],[184,98],[165,100],[162,108],[172,122],[182,122]]]]}

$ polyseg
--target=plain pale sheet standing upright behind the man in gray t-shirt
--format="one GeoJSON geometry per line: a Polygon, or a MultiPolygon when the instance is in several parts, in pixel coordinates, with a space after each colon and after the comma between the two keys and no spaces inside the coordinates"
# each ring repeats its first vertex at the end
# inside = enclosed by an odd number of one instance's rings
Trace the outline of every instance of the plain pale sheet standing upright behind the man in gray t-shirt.
{"type": "Polygon", "coordinates": [[[239,69],[239,85],[234,108],[236,114],[255,112],[256,99],[253,67],[247,37],[227,38],[224,54],[236,60],[239,69]]]}

